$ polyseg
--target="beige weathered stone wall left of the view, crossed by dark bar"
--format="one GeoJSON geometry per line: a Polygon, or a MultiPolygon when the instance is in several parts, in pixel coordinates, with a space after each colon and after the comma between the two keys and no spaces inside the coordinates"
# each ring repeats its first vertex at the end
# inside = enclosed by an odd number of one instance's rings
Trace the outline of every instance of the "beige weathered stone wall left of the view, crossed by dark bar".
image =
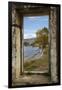
{"type": "Polygon", "coordinates": [[[20,77],[22,65],[22,16],[12,9],[12,79],[20,77]]]}

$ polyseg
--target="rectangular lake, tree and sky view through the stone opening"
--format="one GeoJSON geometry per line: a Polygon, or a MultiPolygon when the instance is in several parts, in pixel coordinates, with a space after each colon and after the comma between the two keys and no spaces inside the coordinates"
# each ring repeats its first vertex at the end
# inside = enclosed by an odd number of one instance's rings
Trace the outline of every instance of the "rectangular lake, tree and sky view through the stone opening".
{"type": "Polygon", "coordinates": [[[49,16],[23,18],[24,73],[49,72],[49,16]]]}

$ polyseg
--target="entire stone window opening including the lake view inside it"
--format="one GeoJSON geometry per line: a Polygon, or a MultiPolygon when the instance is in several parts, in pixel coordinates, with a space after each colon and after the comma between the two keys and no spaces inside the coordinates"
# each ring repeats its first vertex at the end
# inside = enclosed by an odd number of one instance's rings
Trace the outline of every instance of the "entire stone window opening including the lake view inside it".
{"type": "Polygon", "coordinates": [[[12,83],[31,85],[57,81],[57,9],[52,5],[12,4],[12,21],[10,18],[9,25],[12,37],[12,83]],[[45,19],[46,16],[48,19],[45,19]],[[41,18],[44,18],[43,21],[41,18]]]}

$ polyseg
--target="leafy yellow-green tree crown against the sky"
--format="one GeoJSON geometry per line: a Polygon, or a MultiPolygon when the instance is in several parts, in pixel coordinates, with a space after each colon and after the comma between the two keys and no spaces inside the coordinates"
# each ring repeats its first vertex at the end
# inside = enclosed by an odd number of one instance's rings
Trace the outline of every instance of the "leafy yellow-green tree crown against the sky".
{"type": "Polygon", "coordinates": [[[48,44],[48,29],[44,27],[36,32],[35,44],[38,45],[39,48],[44,49],[48,44]]]}

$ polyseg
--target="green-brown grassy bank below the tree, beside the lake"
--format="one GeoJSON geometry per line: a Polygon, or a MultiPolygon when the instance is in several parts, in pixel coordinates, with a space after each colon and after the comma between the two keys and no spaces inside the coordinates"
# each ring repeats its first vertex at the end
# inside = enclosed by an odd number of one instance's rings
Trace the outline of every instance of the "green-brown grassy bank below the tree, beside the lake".
{"type": "Polygon", "coordinates": [[[48,48],[44,50],[43,56],[38,60],[28,60],[24,63],[25,71],[48,70],[48,48]]]}

